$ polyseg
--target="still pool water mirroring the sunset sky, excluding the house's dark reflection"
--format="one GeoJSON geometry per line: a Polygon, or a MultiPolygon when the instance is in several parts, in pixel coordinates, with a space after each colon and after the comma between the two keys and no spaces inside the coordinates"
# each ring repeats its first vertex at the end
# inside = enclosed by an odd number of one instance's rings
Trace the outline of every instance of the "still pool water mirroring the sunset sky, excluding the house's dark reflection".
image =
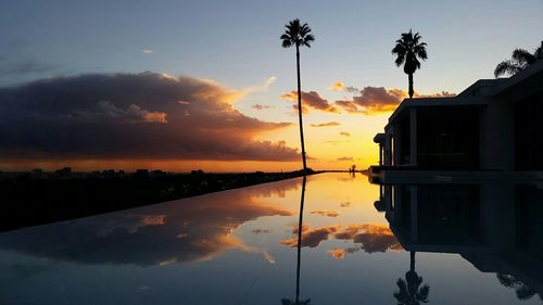
{"type": "Polygon", "coordinates": [[[382,195],[320,174],[1,233],[0,304],[543,303],[538,266],[506,264],[471,220],[409,240],[382,195]]]}

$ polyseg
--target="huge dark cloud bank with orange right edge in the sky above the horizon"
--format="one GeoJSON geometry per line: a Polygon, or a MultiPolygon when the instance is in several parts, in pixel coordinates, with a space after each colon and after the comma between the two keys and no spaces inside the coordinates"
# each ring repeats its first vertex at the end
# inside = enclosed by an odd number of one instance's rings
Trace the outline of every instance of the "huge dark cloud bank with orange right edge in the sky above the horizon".
{"type": "Polygon", "coordinates": [[[298,160],[283,141],[255,140],[292,124],[243,115],[232,102],[247,93],[155,73],[58,77],[2,88],[0,157],[298,160]]]}

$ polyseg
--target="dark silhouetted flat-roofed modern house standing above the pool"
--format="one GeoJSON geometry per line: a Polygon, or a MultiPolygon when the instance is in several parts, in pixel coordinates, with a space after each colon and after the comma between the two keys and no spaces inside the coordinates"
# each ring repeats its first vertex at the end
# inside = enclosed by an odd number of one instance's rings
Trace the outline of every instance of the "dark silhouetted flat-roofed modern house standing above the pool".
{"type": "Polygon", "coordinates": [[[543,170],[543,61],[510,78],[481,79],[454,98],[404,100],[379,144],[390,169],[543,170]]]}

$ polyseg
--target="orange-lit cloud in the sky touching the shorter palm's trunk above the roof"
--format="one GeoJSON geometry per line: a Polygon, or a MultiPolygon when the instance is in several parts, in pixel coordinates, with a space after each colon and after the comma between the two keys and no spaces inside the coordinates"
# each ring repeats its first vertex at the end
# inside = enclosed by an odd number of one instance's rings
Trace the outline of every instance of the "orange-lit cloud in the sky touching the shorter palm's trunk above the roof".
{"type": "MultiPolygon", "coordinates": [[[[456,94],[446,91],[431,94],[420,94],[415,92],[414,98],[450,98],[454,96],[456,94]]],[[[352,100],[336,101],[334,103],[349,113],[363,113],[371,115],[392,112],[396,109],[397,104],[402,102],[402,100],[408,97],[409,94],[402,89],[386,89],[384,87],[368,86],[363,90],[359,90],[358,96],[353,97],[352,100]]]]}

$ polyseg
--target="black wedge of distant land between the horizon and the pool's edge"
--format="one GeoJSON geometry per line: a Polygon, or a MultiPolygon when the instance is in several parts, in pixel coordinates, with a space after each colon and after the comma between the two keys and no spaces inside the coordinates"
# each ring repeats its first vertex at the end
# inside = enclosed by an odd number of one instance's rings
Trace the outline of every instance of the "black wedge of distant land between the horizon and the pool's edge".
{"type": "MultiPolygon", "coordinates": [[[[307,174],[314,174],[310,171],[307,174]]],[[[129,175],[49,179],[18,176],[0,181],[0,230],[66,220],[187,196],[300,177],[303,171],[129,175]]]]}

